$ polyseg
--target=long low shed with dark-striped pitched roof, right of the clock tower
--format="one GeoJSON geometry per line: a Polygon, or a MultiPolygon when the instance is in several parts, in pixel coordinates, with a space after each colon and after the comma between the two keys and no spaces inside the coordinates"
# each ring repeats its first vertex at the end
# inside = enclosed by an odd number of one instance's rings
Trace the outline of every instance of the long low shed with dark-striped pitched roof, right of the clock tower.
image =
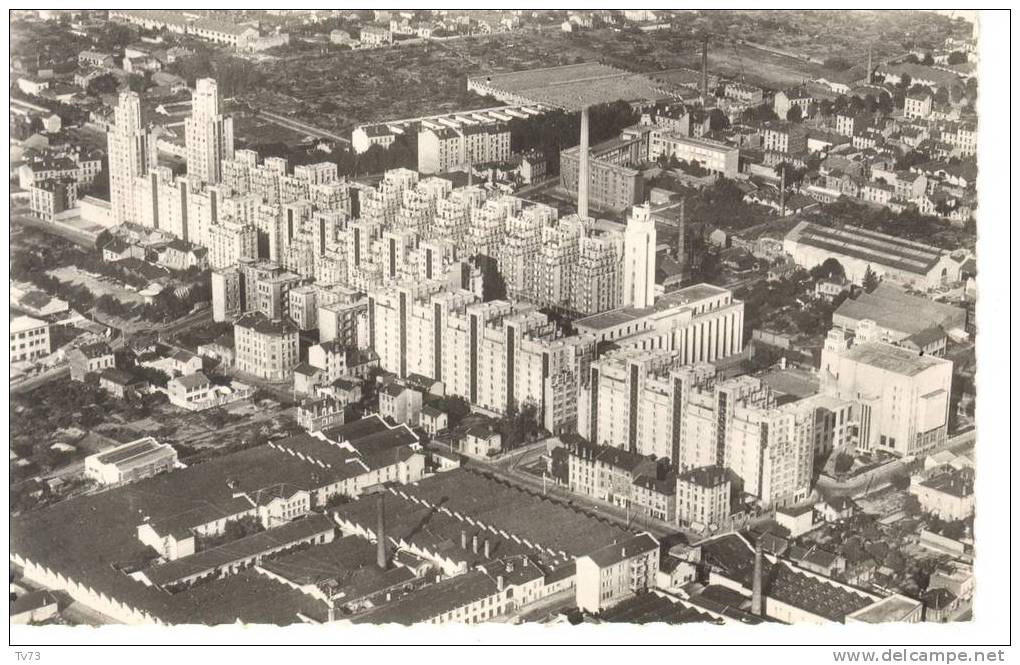
{"type": "Polygon", "coordinates": [[[797,224],[783,250],[803,268],[839,261],[847,278],[861,285],[870,268],[877,277],[930,291],[960,279],[960,264],[947,250],[857,226],[797,224]]]}

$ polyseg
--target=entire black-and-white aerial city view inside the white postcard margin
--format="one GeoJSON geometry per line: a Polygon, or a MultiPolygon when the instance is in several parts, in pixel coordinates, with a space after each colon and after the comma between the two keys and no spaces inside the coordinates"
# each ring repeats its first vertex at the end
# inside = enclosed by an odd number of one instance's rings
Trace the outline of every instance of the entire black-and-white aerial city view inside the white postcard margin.
{"type": "Polygon", "coordinates": [[[10,623],[971,621],[965,13],[12,10],[10,623]]]}

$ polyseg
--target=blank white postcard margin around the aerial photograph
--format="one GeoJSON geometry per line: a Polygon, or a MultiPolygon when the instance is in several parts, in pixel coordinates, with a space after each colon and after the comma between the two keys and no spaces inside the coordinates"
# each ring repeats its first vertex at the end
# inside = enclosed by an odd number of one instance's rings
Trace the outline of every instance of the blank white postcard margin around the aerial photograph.
{"type": "MultiPolygon", "coordinates": [[[[84,3],[65,4],[63,6],[85,6],[84,3]]],[[[114,6],[138,6],[138,3],[113,2],[114,6]]],[[[187,3],[184,3],[187,5],[187,3]]],[[[235,6],[238,8],[257,8],[259,6],[270,7],[273,3],[248,2],[241,3],[226,2],[217,3],[224,6],[235,6]]],[[[278,5],[278,3],[276,3],[278,5]]],[[[318,3],[301,3],[302,6],[314,6],[318,3]]],[[[358,6],[370,6],[368,3],[356,3],[358,6]]],[[[645,2],[643,6],[649,8],[669,8],[663,2],[645,2]]],[[[867,5],[851,3],[858,8],[870,8],[867,5]]],[[[28,3],[22,3],[26,6],[28,3]]],[[[942,2],[906,2],[901,3],[903,8],[923,9],[940,8],[952,9],[952,5],[942,2]]],[[[1003,3],[993,3],[997,6],[1008,6],[1003,3]]],[[[336,6],[336,5],[334,5],[336,6]]],[[[381,5],[388,8],[427,8],[425,3],[392,2],[381,5]]],[[[471,5],[462,2],[434,3],[431,6],[443,6],[446,8],[469,8],[471,5]]],[[[477,5],[475,5],[477,6],[477,5]]],[[[538,2],[520,2],[512,5],[514,8],[549,8],[548,4],[538,2]]],[[[605,8],[619,7],[619,3],[557,3],[557,7],[577,7],[592,8],[602,6],[605,8]]],[[[671,5],[675,7],[676,5],[671,5]]],[[[726,6],[726,5],[720,5],[726,6]]],[[[734,7],[747,7],[747,5],[728,5],[734,7]]],[[[793,2],[789,6],[795,8],[812,8],[813,3],[793,2]]],[[[759,7],[767,8],[767,7],[759,7]]],[[[962,10],[972,11],[972,10],[962,10]]],[[[832,649],[804,649],[788,648],[774,649],[761,648],[751,651],[750,648],[736,649],[737,645],[761,644],[761,645],[827,645],[827,644],[868,644],[868,643],[907,643],[916,645],[968,645],[968,644],[1003,644],[1009,640],[1009,619],[1010,619],[1010,596],[1013,591],[1010,571],[1011,558],[1009,551],[1009,534],[1012,526],[1010,519],[1010,509],[1015,505],[1016,499],[1009,494],[1011,487],[1010,477],[1012,464],[1007,464],[1010,459],[1009,452],[1012,449],[1011,434],[1012,421],[1009,421],[1007,428],[1007,418],[1010,414],[1011,400],[1009,399],[1010,376],[1006,371],[1005,357],[1010,357],[1010,370],[1014,370],[1011,350],[1012,335],[1007,337],[1006,325],[1007,308],[1012,304],[1009,297],[1010,287],[1013,279],[1009,269],[1009,248],[1012,248],[1010,229],[1010,199],[1007,196],[1009,191],[1012,194],[1011,183],[1008,182],[1011,167],[1011,153],[1006,149],[1006,137],[1010,137],[1010,148],[1013,147],[1012,135],[1010,133],[1010,103],[1012,100],[1011,84],[1012,73],[1007,80],[1007,72],[1011,71],[1012,54],[1010,52],[1010,16],[1008,13],[981,11],[980,38],[981,38],[981,61],[979,65],[980,99],[978,100],[978,111],[980,116],[980,137],[979,137],[979,194],[980,205],[978,207],[978,270],[979,270],[979,293],[980,301],[977,310],[977,323],[980,335],[978,337],[978,392],[977,418],[979,421],[980,445],[977,449],[977,495],[978,495],[978,518],[975,526],[977,540],[977,593],[975,605],[975,620],[965,624],[933,625],[888,625],[888,626],[759,626],[755,628],[717,628],[712,626],[692,625],[682,627],[667,626],[599,626],[592,627],[569,627],[550,628],[540,626],[452,626],[443,628],[414,627],[308,627],[292,626],[287,629],[266,628],[261,626],[228,626],[217,628],[205,628],[196,626],[177,626],[170,629],[141,628],[111,626],[99,630],[89,628],[48,628],[45,632],[38,629],[22,626],[12,626],[12,642],[36,643],[45,641],[51,645],[89,643],[95,645],[109,643],[123,644],[216,644],[235,643],[248,645],[295,645],[295,644],[319,644],[319,645],[352,645],[352,644],[380,644],[380,645],[407,645],[407,644],[505,644],[505,645],[526,645],[526,644],[636,644],[636,645],[664,645],[683,644],[690,646],[682,654],[677,654],[679,658],[706,659],[719,658],[723,654],[718,648],[696,649],[695,645],[725,645],[728,647],[728,656],[751,659],[753,661],[764,662],[831,662],[832,649]],[[1010,188],[1010,189],[1008,189],[1010,188]],[[1009,246],[1007,239],[1010,239],[1009,246]]],[[[9,35],[7,36],[9,40],[9,35]]],[[[9,43],[8,43],[9,51],[9,43]]],[[[7,73],[9,79],[9,71],[7,73]]],[[[8,80],[9,84],[9,80],[8,80]]],[[[9,260],[5,257],[5,261],[9,260]]],[[[8,266],[9,268],[9,266],[8,266]]],[[[1010,314],[1012,323],[1012,312],[1010,314]]],[[[7,408],[7,407],[4,407],[7,408]]],[[[5,535],[6,538],[6,535],[5,535]]],[[[15,651],[11,649],[11,651],[15,651]]],[[[29,648],[20,648],[17,651],[33,651],[29,648]]],[[[71,656],[67,649],[49,647],[42,648],[43,658],[60,658],[71,656]]],[[[76,650],[75,650],[76,651],[76,650]]],[[[307,651],[291,652],[280,649],[258,649],[246,650],[243,655],[253,662],[273,661],[279,659],[290,659],[295,656],[307,658],[309,656],[325,656],[340,658],[378,658],[374,652],[359,653],[361,650],[349,648],[344,654],[312,654],[307,651]]],[[[882,657],[885,648],[877,648],[879,658],[882,657]]],[[[503,660],[503,654],[507,652],[496,652],[488,654],[476,654],[468,650],[442,650],[441,651],[402,651],[401,654],[412,661],[420,659],[432,660],[440,656],[446,660],[470,660],[477,662],[484,658],[487,661],[493,659],[503,660]],[[435,656],[434,656],[435,655],[435,656]]],[[[595,658],[608,654],[605,651],[577,650],[570,652],[560,652],[560,658],[567,657],[575,659],[595,658]],[[583,655],[581,655],[583,653],[583,655]]],[[[647,651],[640,652],[642,655],[647,651]]],[[[395,654],[396,655],[396,654],[395,654]]],[[[555,654],[551,654],[557,657],[555,654]]],[[[649,654],[650,656],[652,654],[649,654]]],[[[13,660],[14,655],[11,654],[13,660]]],[[[102,658],[104,662],[138,662],[139,658],[145,659],[147,664],[176,661],[182,657],[188,658],[190,654],[181,653],[178,650],[158,650],[158,649],[136,649],[136,648],[101,648],[89,649],[75,653],[75,659],[85,662],[94,658],[102,658]]],[[[203,659],[219,659],[226,656],[224,651],[208,651],[202,655],[203,659]]],[[[233,657],[234,654],[231,654],[233,657]]],[[[617,658],[618,654],[611,657],[617,658]]],[[[885,656],[891,661],[890,656],[885,656]]]]}

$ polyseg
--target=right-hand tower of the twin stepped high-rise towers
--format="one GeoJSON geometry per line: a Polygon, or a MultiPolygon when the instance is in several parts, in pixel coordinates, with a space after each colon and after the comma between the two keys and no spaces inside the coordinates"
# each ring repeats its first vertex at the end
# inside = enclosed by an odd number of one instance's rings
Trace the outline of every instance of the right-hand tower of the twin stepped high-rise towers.
{"type": "Polygon", "coordinates": [[[185,123],[188,175],[212,185],[222,180],[224,159],[234,159],[234,119],[219,112],[213,79],[199,79],[192,93],[192,114],[185,123]]]}

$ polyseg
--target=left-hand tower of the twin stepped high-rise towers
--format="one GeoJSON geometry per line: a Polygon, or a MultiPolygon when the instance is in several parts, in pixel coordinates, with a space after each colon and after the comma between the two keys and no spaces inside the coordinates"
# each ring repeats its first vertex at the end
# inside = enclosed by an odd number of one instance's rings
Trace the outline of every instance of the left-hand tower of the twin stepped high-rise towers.
{"type": "Polygon", "coordinates": [[[121,224],[136,221],[135,178],[146,175],[156,164],[155,141],[142,126],[142,102],[138,93],[120,93],[113,111],[113,127],[106,135],[110,168],[110,212],[121,224]]]}

